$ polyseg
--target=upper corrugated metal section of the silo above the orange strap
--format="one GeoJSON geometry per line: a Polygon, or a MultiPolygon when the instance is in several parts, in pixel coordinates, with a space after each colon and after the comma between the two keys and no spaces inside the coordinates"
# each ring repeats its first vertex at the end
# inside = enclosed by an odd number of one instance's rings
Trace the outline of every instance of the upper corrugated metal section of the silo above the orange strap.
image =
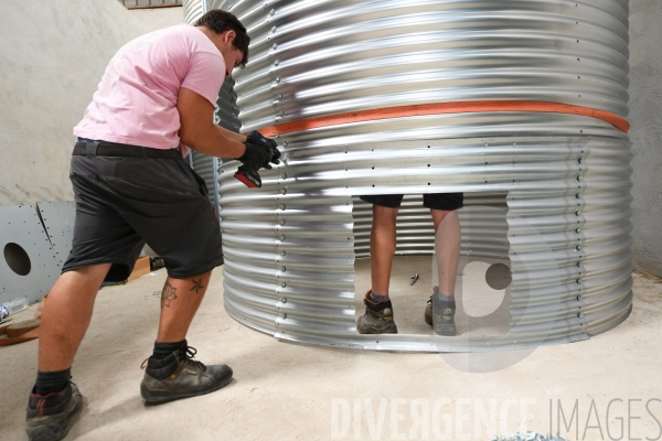
{"type": "Polygon", "coordinates": [[[468,99],[628,115],[628,15],[612,0],[244,0],[229,10],[253,37],[250,65],[234,74],[245,130],[468,99]]]}

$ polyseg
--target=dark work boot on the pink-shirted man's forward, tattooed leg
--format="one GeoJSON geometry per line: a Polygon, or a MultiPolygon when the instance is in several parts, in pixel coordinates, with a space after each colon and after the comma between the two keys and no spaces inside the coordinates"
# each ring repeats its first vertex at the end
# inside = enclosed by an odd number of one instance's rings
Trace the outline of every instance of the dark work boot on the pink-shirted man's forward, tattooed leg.
{"type": "Polygon", "coordinates": [[[193,359],[195,353],[195,348],[184,344],[163,359],[149,357],[140,383],[142,398],[147,402],[167,402],[213,392],[229,383],[229,366],[205,366],[193,359]]]}

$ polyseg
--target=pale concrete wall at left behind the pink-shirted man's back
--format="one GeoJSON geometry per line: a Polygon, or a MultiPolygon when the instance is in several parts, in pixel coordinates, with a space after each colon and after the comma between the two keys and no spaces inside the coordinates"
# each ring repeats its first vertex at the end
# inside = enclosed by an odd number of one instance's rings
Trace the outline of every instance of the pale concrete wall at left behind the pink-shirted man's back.
{"type": "Polygon", "coordinates": [[[0,205],[73,198],[72,129],[110,57],[147,31],[116,0],[0,1],[0,205]]]}

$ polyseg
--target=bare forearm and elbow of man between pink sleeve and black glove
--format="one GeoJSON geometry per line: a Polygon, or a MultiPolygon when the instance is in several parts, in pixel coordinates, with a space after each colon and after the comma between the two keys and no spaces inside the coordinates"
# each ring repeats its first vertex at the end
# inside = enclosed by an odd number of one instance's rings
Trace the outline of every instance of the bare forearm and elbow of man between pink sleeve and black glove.
{"type": "Polygon", "coordinates": [[[214,106],[206,98],[181,87],[177,109],[182,143],[211,157],[236,159],[245,153],[246,137],[216,126],[214,106]]]}

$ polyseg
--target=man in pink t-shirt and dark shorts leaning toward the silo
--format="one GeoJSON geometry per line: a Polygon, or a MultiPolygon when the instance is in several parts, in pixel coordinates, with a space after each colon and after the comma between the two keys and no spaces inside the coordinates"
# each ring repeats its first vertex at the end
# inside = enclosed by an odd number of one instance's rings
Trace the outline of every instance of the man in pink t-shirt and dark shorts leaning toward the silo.
{"type": "Polygon", "coordinates": [[[223,80],[246,64],[249,42],[236,17],[213,10],[195,26],[129,42],[106,68],[74,129],[74,240],[42,314],[39,370],[28,405],[31,440],[60,440],[68,432],[68,419],[83,406],[71,366],[96,293],[104,280],[127,279],[145,243],[163,257],[168,279],[140,394],[148,402],[164,402],[231,380],[228,366],[193,361],[195,349],[185,340],[223,255],[204,181],[183,157],[192,148],[254,170],[278,163],[274,141],[213,122],[223,80]]]}

